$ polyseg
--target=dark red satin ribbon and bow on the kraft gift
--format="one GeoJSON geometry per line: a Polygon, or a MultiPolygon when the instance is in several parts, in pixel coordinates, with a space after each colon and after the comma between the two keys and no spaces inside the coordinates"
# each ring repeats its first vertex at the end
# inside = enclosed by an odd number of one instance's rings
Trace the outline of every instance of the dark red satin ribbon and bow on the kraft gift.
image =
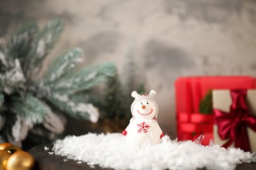
{"type": "Polygon", "coordinates": [[[231,90],[230,93],[232,105],[229,113],[213,109],[215,124],[219,127],[219,136],[222,140],[229,139],[223,144],[224,148],[235,143],[235,147],[242,148],[244,151],[251,151],[246,127],[256,131],[256,116],[249,115],[245,101],[247,90],[231,90]]]}

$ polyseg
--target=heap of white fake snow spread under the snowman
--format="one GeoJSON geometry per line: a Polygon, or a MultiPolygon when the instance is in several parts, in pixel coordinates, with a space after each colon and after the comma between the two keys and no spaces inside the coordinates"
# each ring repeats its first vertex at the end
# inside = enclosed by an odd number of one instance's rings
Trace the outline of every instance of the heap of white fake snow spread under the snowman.
{"type": "Polygon", "coordinates": [[[91,167],[114,169],[234,169],[239,163],[255,161],[255,154],[239,148],[172,141],[167,135],[160,144],[140,146],[126,143],[119,133],[68,136],[54,142],[53,152],[91,167]]]}

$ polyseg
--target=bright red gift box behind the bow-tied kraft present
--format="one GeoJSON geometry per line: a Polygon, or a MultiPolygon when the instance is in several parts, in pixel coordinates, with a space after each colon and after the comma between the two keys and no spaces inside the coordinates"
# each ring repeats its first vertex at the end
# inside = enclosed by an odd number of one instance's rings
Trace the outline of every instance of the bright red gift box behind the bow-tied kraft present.
{"type": "Polygon", "coordinates": [[[177,137],[179,141],[194,140],[204,135],[202,144],[213,139],[213,114],[199,113],[200,100],[209,90],[255,89],[252,76],[188,76],[175,81],[177,137]]]}

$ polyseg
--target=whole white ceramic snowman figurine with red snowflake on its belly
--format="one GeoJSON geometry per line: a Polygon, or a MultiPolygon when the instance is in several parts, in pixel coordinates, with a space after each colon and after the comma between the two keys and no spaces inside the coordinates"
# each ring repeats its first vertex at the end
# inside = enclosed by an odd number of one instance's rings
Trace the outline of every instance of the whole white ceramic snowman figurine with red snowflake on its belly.
{"type": "Polygon", "coordinates": [[[135,144],[142,144],[145,141],[150,144],[160,143],[160,139],[164,134],[156,120],[158,105],[154,100],[155,95],[156,92],[154,90],[151,90],[148,95],[139,95],[135,91],[131,93],[131,96],[135,97],[135,101],[131,104],[133,117],[122,132],[127,142],[135,144]]]}

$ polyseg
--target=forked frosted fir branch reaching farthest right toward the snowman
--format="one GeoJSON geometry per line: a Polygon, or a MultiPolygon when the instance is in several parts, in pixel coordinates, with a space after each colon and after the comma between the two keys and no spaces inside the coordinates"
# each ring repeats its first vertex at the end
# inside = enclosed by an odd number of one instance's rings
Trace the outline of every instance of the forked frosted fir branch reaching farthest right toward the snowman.
{"type": "MultiPolygon", "coordinates": [[[[62,63],[61,59],[57,59],[57,63],[62,63]]],[[[58,72],[58,69],[50,69],[50,77],[58,72]]],[[[53,104],[63,112],[68,113],[75,118],[85,118],[96,122],[98,118],[98,110],[92,105],[87,104],[87,100],[83,99],[78,101],[75,94],[89,90],[99,82],[106,80],[107,76],[114,76],[116,74],[116,67],[113,63],[102,63],[101,65],[91,65],[81,71],[75,73],[71,72],[67,76],[53,78],[55,81],[51,84],[49,79],[41,81],[37,84],[37,90],[41,92],[41,97],[46,99],[49,103],[53,104]],[[48,82],[48,83],[47,83],[48,82]]],[[[57,76],[58,77],[58,76],[57,76]]],[[[37,91],[36,90],[36,91],[37,91]]],[[[88,99],[88,97],[87,97],[88,99]]]]}

